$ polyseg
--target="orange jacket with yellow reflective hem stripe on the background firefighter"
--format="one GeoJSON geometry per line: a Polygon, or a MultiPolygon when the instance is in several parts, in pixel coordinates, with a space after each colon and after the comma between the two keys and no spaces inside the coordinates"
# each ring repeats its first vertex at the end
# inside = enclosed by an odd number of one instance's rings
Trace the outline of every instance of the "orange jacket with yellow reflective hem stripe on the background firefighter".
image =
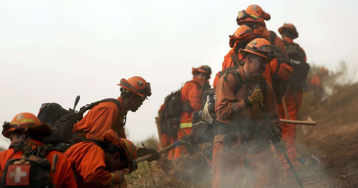
{"type": "MultiPolygon", "coordinates": [[[[188,102],[193,111],[201,110],[201,101],[203,98],[202,87],[208,80],[199,80],[193,78],[192,81],[185,83],[182,88],[182,103],[188,102]],[[196,83],[194,83],[196,82],[196,83]],[[200,87],[198,87],[198,84],[200,87]]],[[[182,112],[180,115],[180,128],[192,127],[193,112],[182,112]]]]}

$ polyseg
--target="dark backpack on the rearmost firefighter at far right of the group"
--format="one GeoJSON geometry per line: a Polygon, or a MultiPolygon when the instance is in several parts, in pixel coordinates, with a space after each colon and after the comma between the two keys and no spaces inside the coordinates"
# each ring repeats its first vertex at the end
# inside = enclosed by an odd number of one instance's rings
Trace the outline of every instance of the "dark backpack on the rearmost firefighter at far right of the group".
{"type": "Polygon", "coordinates": [[[310,65],[304,62],[305,52],[296,43],[289,43],[284,40],[286,46],[286,54],[289,57],[293,73],[288,80],[290,90],[303,90],[306,85],[306,79],[310,69],[310,65]]]}

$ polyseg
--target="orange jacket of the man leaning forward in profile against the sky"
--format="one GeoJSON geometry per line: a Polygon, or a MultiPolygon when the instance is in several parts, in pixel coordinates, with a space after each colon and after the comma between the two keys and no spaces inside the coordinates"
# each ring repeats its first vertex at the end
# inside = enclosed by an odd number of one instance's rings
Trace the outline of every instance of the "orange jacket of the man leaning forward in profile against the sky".
{"type": "MultiPolygon", "coordinates": [[[[123,106],[121,97],[117,100],[123,106]]],[[[114,102],[102,102],[89,110],[81,121],[73,125],[72,132],[87,139],[98,140],[103,132],[114,129],[120,138],[126,138],[124,116],[127,112],[118,109],[114,102]]]]}

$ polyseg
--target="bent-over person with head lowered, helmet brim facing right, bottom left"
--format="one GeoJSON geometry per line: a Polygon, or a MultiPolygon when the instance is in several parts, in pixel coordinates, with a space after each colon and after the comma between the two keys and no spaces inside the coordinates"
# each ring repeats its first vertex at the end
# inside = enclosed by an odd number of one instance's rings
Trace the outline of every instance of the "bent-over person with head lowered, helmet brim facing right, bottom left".
{"type": "Polygon", "coordinates": [[[127,187],[124,174],[137,169],[134,144],[119,138],[114,130],[103,133],[101,140],[82,141],[68,148],[64,155],[71,161],[78,187],[127,187]]]}

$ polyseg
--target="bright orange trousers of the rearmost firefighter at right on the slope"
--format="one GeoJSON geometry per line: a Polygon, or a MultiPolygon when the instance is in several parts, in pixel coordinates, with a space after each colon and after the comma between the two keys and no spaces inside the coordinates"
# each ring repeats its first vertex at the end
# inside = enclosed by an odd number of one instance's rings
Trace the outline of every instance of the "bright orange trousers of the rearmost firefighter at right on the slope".
{"type": "MultiPolygon", "coordinates": [[[[297,120],[297,115],[298,115],[294,92],[295,91],[287,91],[285,96],[290,120],[297,120]]],[[[297,93],[296,94],[297,105],[298,105],[298,109],[300,109],[303,92],[302,90],[299,90],[296,91],[296,93],[297,93]]],[[[279,107],[280,119],[286,119],[283,104],[279,105],[278,107],[279,107]]],[[[281,124],[281,127],[282,127],[282,138],[286,141],[286,145],[287,145],[287,155],[289,156],[292,164],[297,165],[296,145],[295,145],[296,125],[281,124]]],[[[282,164],[284,170],[289,170],[290,166],[287,163],[284,155],[279,154],[279,161],[282,164]]]]}

